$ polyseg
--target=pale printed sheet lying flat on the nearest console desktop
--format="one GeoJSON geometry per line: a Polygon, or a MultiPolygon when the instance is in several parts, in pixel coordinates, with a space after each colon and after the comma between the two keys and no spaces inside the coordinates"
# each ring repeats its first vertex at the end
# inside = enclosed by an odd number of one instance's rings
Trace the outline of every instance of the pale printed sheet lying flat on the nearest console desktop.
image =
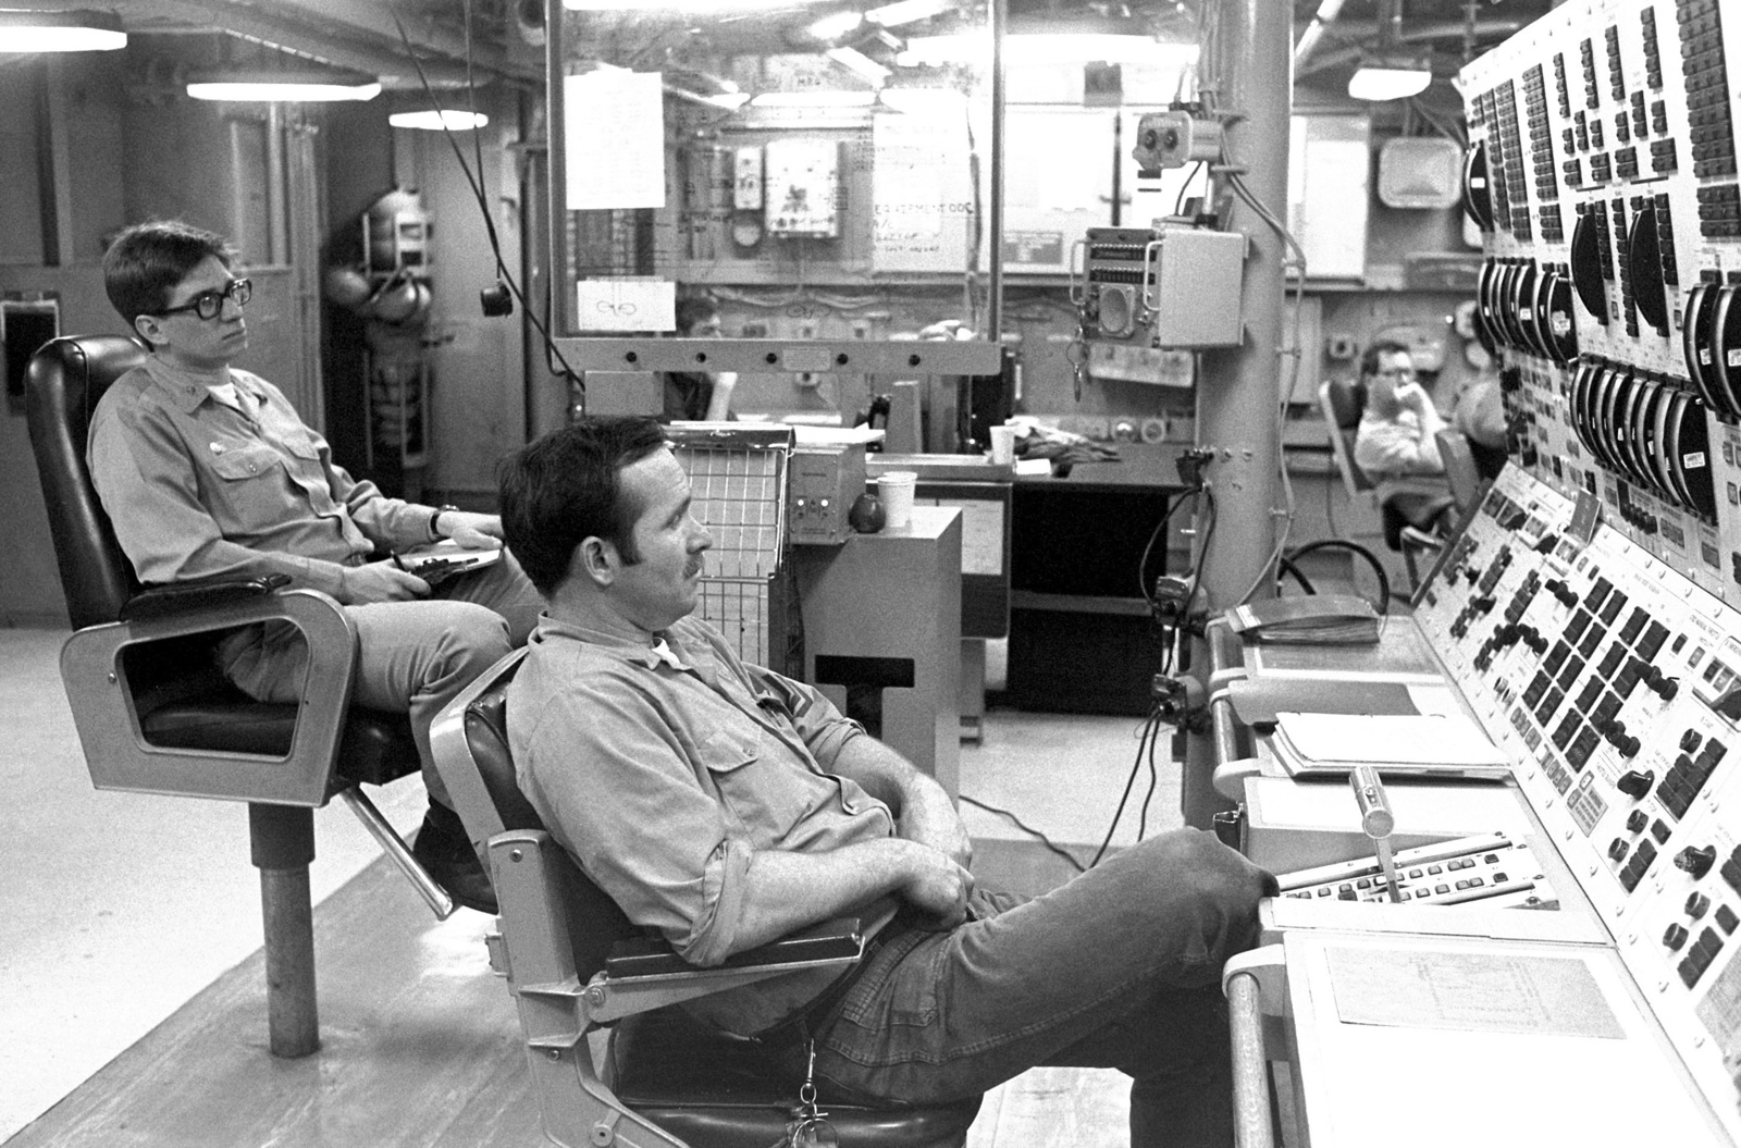
{"type": "Polygon", "coordinates": [[[1576,956],[1325,949],[1344,1024],[1624,1040],[1576,956]]]}

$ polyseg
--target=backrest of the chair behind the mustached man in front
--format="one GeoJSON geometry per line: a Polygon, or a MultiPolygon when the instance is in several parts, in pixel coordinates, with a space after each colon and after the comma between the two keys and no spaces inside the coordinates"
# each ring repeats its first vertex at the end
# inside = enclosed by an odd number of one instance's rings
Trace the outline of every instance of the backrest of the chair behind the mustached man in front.
{"type": "MultiPolygon", "coordinates": [[[[524,650],[507,655],[458,699],[461,739],[451,735],[446,714],[430,737],[437,766],[447,782],[460,820],[465,822],[467,836],[484,855],[487,852],[482,845],[498,833],[545,827],[538,810],[521,791],[514,753],[508,749],[507,692],[522,658],[524,650]],[[463,753],[454,753],[456,749],[463,753]]],[[[604,967],[604,958],[618,941],[644,935],[644,930],[630,923],[609,894],[594,885],[578,864],[566,854],[562,857],[568,861],[569,878],[562,909],[568,916],[575,972],[585,983],[604,967]]]]}

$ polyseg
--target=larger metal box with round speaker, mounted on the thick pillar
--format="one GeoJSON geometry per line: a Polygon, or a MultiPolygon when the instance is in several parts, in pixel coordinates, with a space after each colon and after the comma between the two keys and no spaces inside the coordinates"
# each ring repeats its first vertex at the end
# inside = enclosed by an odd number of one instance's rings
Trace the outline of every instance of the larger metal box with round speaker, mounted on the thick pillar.
{"type": "Polygon", "coordinates": [[[1092,226],[1071,279],[1090,348],[1240,347],[1247,239],[1193,226],[1092,226]]]}

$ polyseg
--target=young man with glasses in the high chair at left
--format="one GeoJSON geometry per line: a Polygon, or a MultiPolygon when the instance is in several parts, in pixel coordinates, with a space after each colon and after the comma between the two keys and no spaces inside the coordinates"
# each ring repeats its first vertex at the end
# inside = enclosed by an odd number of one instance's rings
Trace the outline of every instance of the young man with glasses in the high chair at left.
{"type": "MultiPolygon", "coordinates": [[[[437,592],[378,550],[437,538],[501,545],[501,521],[387,498],[333,463],[266,380],[232,368],[247,350],[247,279],[221,235],[179,221],[127,228],[103,260],[110,301],[146,343],[91,418],[87,462],[115,537],[145,584],[289,575],[331,594],[357,625],[355,700],[411,714],[430,810],[414,854],[460,904],[494,909],[428,753],[428,725],[538,620],[541,601],[503,554],[437,592]]],[[[218,645],[218,665],[263,702],[301,697],[308,646],[289,622],[218,645]]]]}

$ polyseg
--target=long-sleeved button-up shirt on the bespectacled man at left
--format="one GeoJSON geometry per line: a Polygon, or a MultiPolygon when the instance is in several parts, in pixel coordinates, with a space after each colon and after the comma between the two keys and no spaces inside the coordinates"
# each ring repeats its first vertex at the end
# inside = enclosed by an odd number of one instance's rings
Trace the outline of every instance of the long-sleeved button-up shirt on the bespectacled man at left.
{"type": "Polygon", "coordinates": [[[352,479],[277,387],[228,368],[127,371],[92,415],[87,462],[146,584],[286,573],[346,601],[348,566],[428,542],[435,514],[352,479]],[[211,394],[226,382],[235,408],[211,394]]]}

